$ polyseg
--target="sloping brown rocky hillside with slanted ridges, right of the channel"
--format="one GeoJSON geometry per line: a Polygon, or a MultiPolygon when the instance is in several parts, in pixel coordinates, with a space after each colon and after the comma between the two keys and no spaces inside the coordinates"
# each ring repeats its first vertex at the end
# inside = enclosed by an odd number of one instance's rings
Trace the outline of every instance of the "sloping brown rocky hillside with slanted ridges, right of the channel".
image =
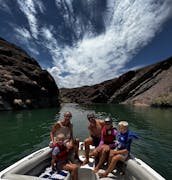
{"type": "Polygon", "coordinates": [[[93,86],[61,89],[61,101],[172,106],[172,58],[93,86]]]}

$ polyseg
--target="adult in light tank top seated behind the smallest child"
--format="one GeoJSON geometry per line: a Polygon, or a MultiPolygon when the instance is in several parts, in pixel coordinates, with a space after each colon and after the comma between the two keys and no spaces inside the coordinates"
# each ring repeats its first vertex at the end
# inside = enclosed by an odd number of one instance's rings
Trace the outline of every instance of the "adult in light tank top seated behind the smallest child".
{"type": "Polygon", "coordinates": [[[52,144],[50,147],[53,147],[56,144],[56,136],[58,134],[64,134],[65,136],[65,143],[68,150],[71,150],[74,148],[75,151],[75,159],[79,160],[78,157],[78,148],[79,148],[79,139],[73,139],[73,124],[70,121],[72,118],[71,112],[67,111],[64,113],[64,119],[61,121],[57,121],[51,132],[50,132],[50,138],[52,141],[52,144]]]}

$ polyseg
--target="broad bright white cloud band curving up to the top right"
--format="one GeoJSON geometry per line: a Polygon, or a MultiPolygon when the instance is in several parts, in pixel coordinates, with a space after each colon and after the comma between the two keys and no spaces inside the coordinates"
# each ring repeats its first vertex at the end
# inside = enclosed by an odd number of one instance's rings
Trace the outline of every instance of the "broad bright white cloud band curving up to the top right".
{"type": "Polygon", "coordinates": [[[48,71],[59,87],[92,85],[119,75],[132,56],[160,31],[172,11],[170,0],[111,0],[109,3],[114,8],[106,14],[105,34],[94,38],[85,35],[76,47],[64,49],[59,49],[51,36],[49,49],[55,67],[48,71]]]}

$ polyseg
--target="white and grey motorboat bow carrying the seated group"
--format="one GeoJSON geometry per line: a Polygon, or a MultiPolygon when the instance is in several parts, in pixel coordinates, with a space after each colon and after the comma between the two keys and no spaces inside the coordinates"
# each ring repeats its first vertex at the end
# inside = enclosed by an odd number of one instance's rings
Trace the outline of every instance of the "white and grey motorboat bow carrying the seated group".
{"type": "MultiPolygon", "coordinates": [[[[80,143],[83,145],[83,143],[80,143]]],[[[92,146],[91,149],[94,147],[92,146]]],[[[0,179],[2,180],[46,180],[46,179],[64,179],[69,180],[70,173],[67,171],[60,171],[53,174],[50,169],[51,151],[49,147],[42,148],[8,168],[0,172],[0,179]],[[48,174],[49,173],[49,174],[48,174]]],[[[81,160],[85,158],[85,151],[83,146],[79,148],[79,157],[81,160]]],[[[90,162],[84,166],[79,167],[79,180],[99,180],[99,176],[93,173],[92,170],[95,166],[94,159],[90,158],[90,162]]],[[[100,169],[104,171],[104,169],[100,169]]],[[[153,170],[150,166],[142,160],[130,156],[125,162],[122,162],[112,173],[101,180],[165,180],[159,173],[153,170]]]]}

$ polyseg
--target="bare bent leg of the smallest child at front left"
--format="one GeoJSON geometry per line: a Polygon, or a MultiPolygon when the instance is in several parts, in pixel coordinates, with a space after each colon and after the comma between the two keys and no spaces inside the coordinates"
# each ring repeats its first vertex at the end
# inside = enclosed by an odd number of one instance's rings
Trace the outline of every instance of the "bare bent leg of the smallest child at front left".
{"type": "Polygon", "coordinates": [[[70,171],[72,180],[78,180],[78,166],[76,164],[68,163],[63,165],[61,169],[70,171]]]}

